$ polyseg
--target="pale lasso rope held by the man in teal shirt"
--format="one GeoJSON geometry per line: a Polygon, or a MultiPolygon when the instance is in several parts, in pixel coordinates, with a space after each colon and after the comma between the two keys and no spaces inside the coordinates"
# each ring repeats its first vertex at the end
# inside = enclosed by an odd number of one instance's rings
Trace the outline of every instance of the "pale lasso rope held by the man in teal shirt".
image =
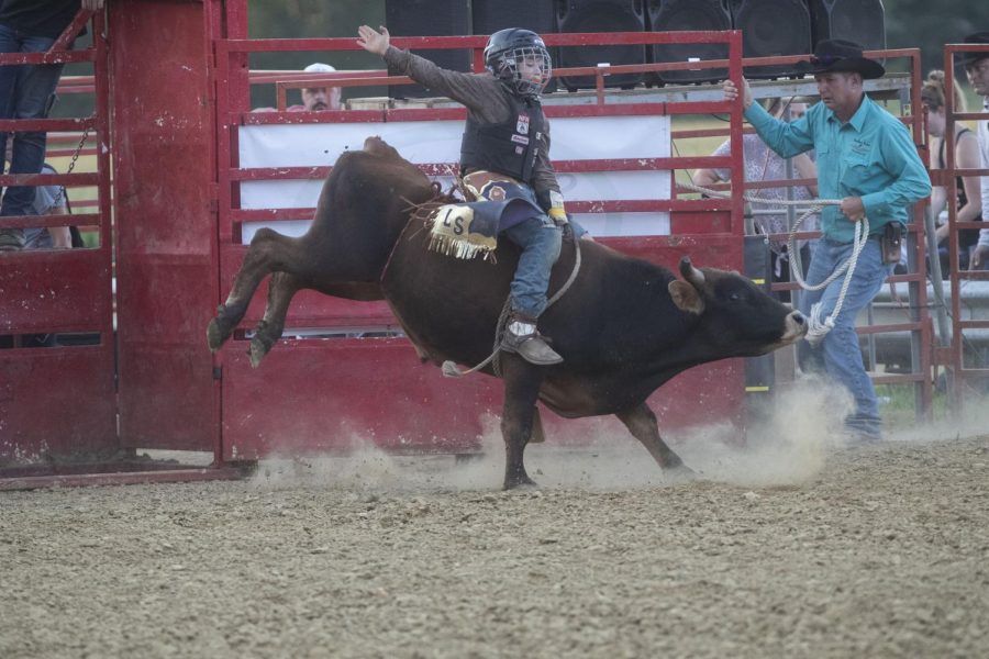
{"type": "MultiPolygon", "coordinates": [[[[700,192],[701,194],[708,194],[709,197],[718,197],[720,199],[731,198],[731,192],[710,190],[708,188],[694,186],[693,183],[677,185],[680,188],[700,192]]],[[[807,203],[805,201],[791,201],[789,199],[765,199],[763,197],[755,197],[752,194],[743,194],[743,199],[751,203],[776,205],[803,205],[804,203],[807,203]]],[[[787,250],[790,254],[790,272],[792,273],[793,280],[799,283],[800,288],[802,288],[803,290],[820,291],[832,281],[841,277],[843,273],[845,275],[845,280],[842,282],[842,290],[838,292],[838,298],[834,304],[834,311],[831,312],[831,315],[822,321],[821,303],[816,302],[815,304],[811,305],[810,317],[807,320],[807,342],[812,346],[815,346],[824,340],[824,336],[826,336],[827,333],[834,328],[835,319],[837,319],[838,313],[841,313],[842,305],[845,303],[845,295],[848,293],[848,287],[852,286],[852,275],[855,272],[855,266],[858,265],[858,255],[862,254],[863,248],[866,246],[866,243],[869,239],[869,220],[868,217],[863,217],[862,222],[855,222],[855,238],[852,241],[852,255],[848,257],[848,260],[835,268],[834,272],[832,272],[827,277],[827,279],[825,279],[821,283],[815,284],[809,284],[803,279],[803,264],[800,259],[800,250],[797,248],[797,234],[799,233],[800,226],[803,224],[804,220],[807,220],[814,213],[822,211],[824,206],[841,205],[841,199],[813,200],[814,205],[809,208],[800,215],[800,217],[797,219],[797,222],[793,223],[793,227],[790,228],[790,235],[787,239],[787,250]]]]}

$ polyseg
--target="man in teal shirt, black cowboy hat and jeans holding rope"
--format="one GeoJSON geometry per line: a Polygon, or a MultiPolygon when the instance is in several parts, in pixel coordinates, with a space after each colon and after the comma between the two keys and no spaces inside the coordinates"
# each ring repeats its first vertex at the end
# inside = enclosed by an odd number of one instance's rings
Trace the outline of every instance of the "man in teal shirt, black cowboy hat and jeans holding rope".
{"type": "MultiPolygon", "coordinates": [[[[822,41],[811,60],[801,64],[813,74],[821,96],[802,118],[791,123],[774,119],[753,102],[744,79],[742,103],[745,119],[784,158],[814,149],[821,198],[842,200],[841,205],[825,206],[821,213],[824,235],[811,257],[809,286],[823,282],[848,260],[855,223],[868,220],[869,239],[859,254],[841,312],[814,349],[823,353],[827,373],[855,400],[855,411],[845,417],[848,432],[856,438],[878,439],[882,423],[862,361],[855,316],[873,301],[896,265],[884,263],[879,236],[893,222],[900,233],[904,231],[909,206],[931,194],[931,179],[907,127],[863,90],[864,79],[880,78],[886,71],[878,62],[863,57],[862,46],[844,40],[822,41]]],[[[738,88],[725,80],[724,94],[734,100],[738,88]]],[[[819,321],[830,317],[843,281],[844,277],[838,277],[822,290],[807,291],[800,311],[819,321]]]]}

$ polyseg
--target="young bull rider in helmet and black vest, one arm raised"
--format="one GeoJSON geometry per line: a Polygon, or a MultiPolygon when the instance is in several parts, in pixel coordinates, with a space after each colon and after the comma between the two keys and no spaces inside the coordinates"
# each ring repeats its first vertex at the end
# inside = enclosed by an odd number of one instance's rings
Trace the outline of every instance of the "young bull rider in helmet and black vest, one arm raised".
{"type": "MultiPolygon", "coordinates": [[[[563,358],[536,330],[568,224],[549,163],[549,124],[540,103],[552,70],[543,40],[529,30],[496,32],[485,47],[489,72],[464,74],[390,46],[385,27],[378,32],[362,25],[357,33],[357,43],[382,56],[389,70],[467,107],[460,174],[469,190],[482,200],[527,202],[522,204],[525,212],[507,213],[500,223],[501,234],[522,248],[501,349],[535,365],[559,364],[563,358]]],[[[584,233],[576,224],[574,231],[576,238],[584,233]]]]}

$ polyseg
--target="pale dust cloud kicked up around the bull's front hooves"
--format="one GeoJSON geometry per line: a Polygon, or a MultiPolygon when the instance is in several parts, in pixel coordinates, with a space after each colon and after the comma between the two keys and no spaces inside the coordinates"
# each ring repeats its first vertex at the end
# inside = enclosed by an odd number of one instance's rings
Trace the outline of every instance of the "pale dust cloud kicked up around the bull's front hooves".
{"type": "MultiPolygon", "coordinates": [[[[844,445],[841,420],[851,410],[842,390],[803,378],[777,394],[775,404],[742,432],[708,423],[660,433],[698,479],[741,487],[798,485],[814,478],[831,450],[844,445]]],[[[567,428],[566,422],[559,424],[567,428]]],[[[610,420],[584,422],[577,432],[548,432],[526,448],[525,466],[540,487],[620,491],[677,485],[645,448],[610,420]],[[559,435],[565,434],[565,437],[559,435]],[[555,435],[555,436],[554,436],[555,435]]],[[[354,491],[493,491],[501,488],[504,448],[497,418],[485,424],[482,450],[470,459],[396,456],[358,435],[343,455],[262,460],[253,484],[260,489],[332,488],[354,491]]]]}

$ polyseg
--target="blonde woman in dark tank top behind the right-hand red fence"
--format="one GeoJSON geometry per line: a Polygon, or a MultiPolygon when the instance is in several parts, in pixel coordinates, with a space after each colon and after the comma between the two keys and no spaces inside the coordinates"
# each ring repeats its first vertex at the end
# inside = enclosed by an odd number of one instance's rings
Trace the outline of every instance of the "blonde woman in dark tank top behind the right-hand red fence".
{"type": "MultiPolygon", "coordinates": [[[[947,141],[944,138],[944,132],[947,127],[947,118],[945,116],[945,94],[944,71],[933,70],[927,74],[927,79],[921,88],[921,102],[927,111],[927,132],[931,134],[931,168],[944,169],[947,164],[945,156],[945,147],[947,141]]],[[[965,112],[965,97],[956,85],[952,90],[952,99],[955,112],[965,112]]],[[[975,133],[973,133],[962,122],[955,123],[955,167],[962,169],[979,168],[979,144],[975,133]]],[[[947,203],[954,203],[957,209],[958,222],[977,222],[982,217],[982,198],[979,191],[979,177],[966,176],[955,177],[955,185],[952,189],[944,186],[937,186],[931,193],[931,211],[934,217],[938,217],[942,211],[946,211],[947,203]]],[[[942,270],[947,270],[948,260],[948,225],[944,222],[937,227],[935,233],[938,253],[941,254],[942,270]]],[[[978,241],[979,232],[974,228],[966,228],[958,232],[958,258],[963,269],[968,268],[969,248],[978,241]]]]}

